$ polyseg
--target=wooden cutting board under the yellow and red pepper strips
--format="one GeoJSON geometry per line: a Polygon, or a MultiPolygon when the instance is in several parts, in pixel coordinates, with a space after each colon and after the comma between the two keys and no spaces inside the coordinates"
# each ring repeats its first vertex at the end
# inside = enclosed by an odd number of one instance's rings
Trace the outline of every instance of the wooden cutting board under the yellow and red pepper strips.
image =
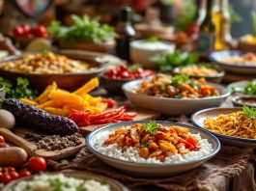
{"type": "MultiPolygon", "coordinates": [[[[147,109],[141,109],[141,108],[128,108],[128,111],[135,111],[137,112],[137,116],[134,118],[134,121],[139,120],[156,120],[160,117],[160,113],[156,111],[151,111],[147,109]]],[[[80,127],[80,133],[84,136],[86,136],[88,133],[92,132],[93,130],[100,128],[101,126],[105,126],[109,123],[105,124],[95,124],[95,125],[88,125],[84,127],[80,127]]]]}

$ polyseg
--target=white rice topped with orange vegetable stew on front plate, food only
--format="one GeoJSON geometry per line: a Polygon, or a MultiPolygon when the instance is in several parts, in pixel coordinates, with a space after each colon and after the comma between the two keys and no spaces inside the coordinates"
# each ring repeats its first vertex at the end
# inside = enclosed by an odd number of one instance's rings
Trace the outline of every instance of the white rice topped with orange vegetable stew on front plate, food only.
{"type": "Polygon", "coordinates": [[[193,161],[213,152],[213,146],[188,128],[163,126],[152,121],[96,135],[94,148],[101,154],[128,162],[171,164],[193,161]]]}

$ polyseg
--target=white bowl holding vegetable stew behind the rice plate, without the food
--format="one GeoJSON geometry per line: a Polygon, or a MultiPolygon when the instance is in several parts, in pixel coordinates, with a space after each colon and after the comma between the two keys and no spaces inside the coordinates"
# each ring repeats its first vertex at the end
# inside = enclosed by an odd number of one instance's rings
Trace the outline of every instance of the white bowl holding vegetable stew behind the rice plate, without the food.
{"type": "Polygon", "coordinates": [[[168,98],[134,93],[133,90],[140,88],[142,81],[145,80],[134,80],[123,85],[123,91],[129,101],[137,107],[155,110],[162,114],[172,116],[189,116],[201,109],[220,106],[231,94],[227,88],[213,83],[208,84],[218,90],[220,93],[218,96],[205,98],[168,98]]]}

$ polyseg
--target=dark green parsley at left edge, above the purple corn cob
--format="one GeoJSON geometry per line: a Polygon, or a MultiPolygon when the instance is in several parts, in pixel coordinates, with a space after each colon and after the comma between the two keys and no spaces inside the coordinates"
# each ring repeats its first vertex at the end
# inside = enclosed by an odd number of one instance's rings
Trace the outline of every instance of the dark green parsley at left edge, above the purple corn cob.
{"type": "Polygon", "coordinates": [[[0,77],[0,84],[4,85],[7,98],[26,97],[33,99],[38,95],[37,90],[29,88],[29,81],[26,78],[18,77],[14,85],[10,80],[0,77]]]}

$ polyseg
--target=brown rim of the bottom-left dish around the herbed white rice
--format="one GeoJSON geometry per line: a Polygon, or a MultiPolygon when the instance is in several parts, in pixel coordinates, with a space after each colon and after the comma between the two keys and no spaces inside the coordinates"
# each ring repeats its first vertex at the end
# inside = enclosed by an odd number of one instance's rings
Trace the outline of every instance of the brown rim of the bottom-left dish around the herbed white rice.
{"type": "MultiPolygon", "coordinates": [[[[82,172],[82,171],[74,171],[74,170],[65,170],[65,171],[62,171],[61,173],[64,174],[66,177],[79,177],[82,179],[95,179],[98,181],[106,181],[107,184],[110,186],[111,191],[128,191],[128,188],[125,185],[123,185],[119,181],[112,179],[110,177],[103,177],[103,176],[99,176],[99,175],[95,175],[95,174],[91,174],[91,173],[86,173],[86,172],[82,172]]],[[[51,173],[51,174],[56,175],[58,173],[51,173]]],[[[3,191],[9,191],[10,189],[12,189],[14,187],[14,185],[19,183],[20,181],[30,180],[33,177],[35,177],[35,176],[23,177],[18,180],[14,180],[11,183],[9,183],[3,189],[3,191]]]]}

